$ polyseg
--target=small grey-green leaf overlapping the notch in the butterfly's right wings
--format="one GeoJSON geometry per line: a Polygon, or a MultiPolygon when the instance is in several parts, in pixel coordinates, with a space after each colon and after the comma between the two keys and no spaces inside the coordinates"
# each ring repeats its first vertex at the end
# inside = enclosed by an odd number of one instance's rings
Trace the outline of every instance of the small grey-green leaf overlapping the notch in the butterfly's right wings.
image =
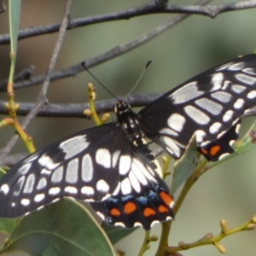
{"type": "Polygon", "coordinates": [[[195,134],[191,137],[189,145],[186,148],[183,156],[177,160],[173,166],[174,173],[172,179],[172,189],[171,194],[173,195],[180,185],[186,181],[189,176],[195,171],[195,166],[197,166],[197,144],[195,139],[195,134]]]}

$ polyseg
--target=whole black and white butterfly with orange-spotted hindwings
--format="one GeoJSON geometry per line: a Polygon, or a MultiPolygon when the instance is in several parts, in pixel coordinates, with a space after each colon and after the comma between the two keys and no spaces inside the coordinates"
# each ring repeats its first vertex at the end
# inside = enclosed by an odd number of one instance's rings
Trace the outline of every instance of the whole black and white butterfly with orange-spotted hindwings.
{"type": "Polygon", "coordinates": [[[256,105],[256,55],[189,79],[134,113],[117,102],[116,122],[79,131],[21,160],[0,180],[0,217],[70,196],[90,201],[107,224],[127,228],[173,218],[172,196],[145,143],[180,158],[195,133],[208,160],[233,152],[241,115],[256,105]]]}

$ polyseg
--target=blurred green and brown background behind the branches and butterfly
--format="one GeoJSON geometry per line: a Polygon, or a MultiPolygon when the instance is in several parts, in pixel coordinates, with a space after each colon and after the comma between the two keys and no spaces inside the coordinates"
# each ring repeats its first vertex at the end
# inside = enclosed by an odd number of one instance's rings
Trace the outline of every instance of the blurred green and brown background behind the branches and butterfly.
{"type": "MultiPolygon", "coordinates": [[[[231,2],[234,1],[212,1],[211,4],[231,2]]],[[[71,18],[108,14],[137,7],[143,3],[148,1],[76,0],[73,1],[71,18]]],[[[170,1],[169,3],[192,4],[193,2],[170,1]]],[[[64,4],[64,1],[60,0],[22,1],[20,29],[59,23],[64,4]]],[[[86,61],[116,45],[126,44],[165,24],[174,16],[143,15],[130,20],[104,22],[68,31],[55,70],[86,61]]],[[[209,67],[234,59],[238,55],[253,53],[256,47],[255,21],[256,9],[228,12],[218,15],[215,19],[193,15],[147,44],[93,67],[90,71],[108,86],[113,94],[125,96],[136,83],[145,64],[151,60],[153,62],[137,86],[136,92],[165,92],[209,67]]],[[[0,34],[8,32],[9,20],[6,12],[0,15],[0,34]]],[[[34,65],[35,75],[45,73],[56,37],[57,34],[53,33],[20,40],[16,72],[34,65]]],[[[0,45],[0,60],[0,80],[8,79],[9,45],[0,45]]],[[[96,84],[86,72],[79,73],[73,78],[52,82],[49,87],[49,102],[87,102],[88,82],[96,84]]],[[[35,102],[40,87],[41,84],[38,84],[16,90],[16,101],[35,102]]],[[[106,90],[97,86],[98,100],[110,97],[106,90]]],[[[1,92],[0,98],[7,100],[6,93],[1,92]]],[[[3,117],[1,115],[1,119],[3,117]]],[[[247,119],[243,124],[247,126],[251,120],[247,119]]],[[[58,138],[93,125],[93,122],[85,119],[38,118],[33,120],[26,131],[34,137],[36,147],[41,148],[58,138]]],[[[5,127],[0,132],[0,145],[3,146],[14,134],[14,130],[5,127]]],[[[12,153],[15,152],[26,152],[25,145],[22,142],[17,143],[12,153]]],[[[176,246],[178,241],[196,241],[209,232],[217,235],[221,218],[226,218],[232,228],[253,217],[256,213],[255,153],[256,151],[252,150],[229,160],[200,178],[177,213],[172,226],[170,245],[176,246]]],[[[159,225],[151,233],[160,234],[159,225]]],[[[4,237],[1,237],[3,244],[4,237]]],[[[127,256],[133,256],[137,255],[142,241],[143,230],[138,230],[119,242],[117,247],[125,250],[127,256]]],[[[227,256],[255,255],[256,231],[229,236],[221,243],[226,247],[227,256]]],[[[152,243],[151,249],[145,255],[154,255],[154,252],[155,247],[152,243]]],[[[213,256],[219,255],[219,252],[215,247],[207,246],[184,251],[182,254],[213,256]]],[[[25,253],[12,255],[25,255],[25,253]]]]}

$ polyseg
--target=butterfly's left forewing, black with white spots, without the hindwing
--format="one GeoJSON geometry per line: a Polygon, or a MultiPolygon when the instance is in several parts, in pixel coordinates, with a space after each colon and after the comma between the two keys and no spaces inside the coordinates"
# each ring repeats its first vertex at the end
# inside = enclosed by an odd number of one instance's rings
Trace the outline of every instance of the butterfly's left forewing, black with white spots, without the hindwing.
{"type": "Polygon", "coordinates": [[[0,216],[15,217],[63,196],[102,201],[119,183],[129,141],[116,123],[80,131],[20,161],[1,179],[0,216]]]}

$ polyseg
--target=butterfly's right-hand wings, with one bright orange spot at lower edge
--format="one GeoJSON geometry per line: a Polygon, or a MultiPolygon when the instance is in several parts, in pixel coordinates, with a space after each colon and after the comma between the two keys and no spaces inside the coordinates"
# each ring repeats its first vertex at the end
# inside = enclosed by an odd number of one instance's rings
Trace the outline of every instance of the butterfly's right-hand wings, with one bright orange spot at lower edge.
{"type": "Polygon", "coordinates": [[[255,104],[256,57],[247,55],[189,79],[143,108],[139,117],[146,136],[174,158],[181,157],[195,133],[201,153],[218,160],[233,152],[239,119],[255,104]]]}

